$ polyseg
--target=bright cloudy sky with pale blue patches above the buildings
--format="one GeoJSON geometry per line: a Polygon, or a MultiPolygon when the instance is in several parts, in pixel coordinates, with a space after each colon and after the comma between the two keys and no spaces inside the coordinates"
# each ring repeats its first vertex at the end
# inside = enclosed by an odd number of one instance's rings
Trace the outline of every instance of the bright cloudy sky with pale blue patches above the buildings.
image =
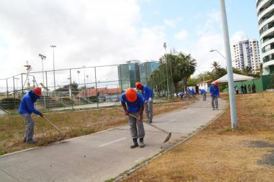
{"type": "MultiPolygon", "coordinates": [[[[256,0],[225,3],[230,43],[259,40],[256,0]]],[[[26,61],[40,72],[39,54],[53,70],[50,45],[55,70],[158,60],[164,42],[197,60],[195,74],[212,70],[212,61],[225,67],[209,52],[225,55],[219,0],[0,0],[0,22],[0,78],[25,72],[26,61]]]]}

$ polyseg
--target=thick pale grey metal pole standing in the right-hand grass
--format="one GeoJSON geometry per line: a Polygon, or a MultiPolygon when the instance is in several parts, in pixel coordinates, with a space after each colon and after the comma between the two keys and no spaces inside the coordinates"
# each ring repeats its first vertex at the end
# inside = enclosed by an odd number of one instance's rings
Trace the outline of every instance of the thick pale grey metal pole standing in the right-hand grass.
{"type": "Polygon", "coordinates": [[[228,89],[229,89],[229,104],[230,104],[230,115],[232,121],[232,129],[237,127],[236,117],[236,101],[234,93],[234,79],[232,70],[232,58],[230,53],[229,33],[227,27],[227,15],[225,10],[225,0],[219,0],[221,5],[221,18],[223,27],[223,40],[225,43],[225,57],[227,62],[227,76],[228,76],[228,89]]]}

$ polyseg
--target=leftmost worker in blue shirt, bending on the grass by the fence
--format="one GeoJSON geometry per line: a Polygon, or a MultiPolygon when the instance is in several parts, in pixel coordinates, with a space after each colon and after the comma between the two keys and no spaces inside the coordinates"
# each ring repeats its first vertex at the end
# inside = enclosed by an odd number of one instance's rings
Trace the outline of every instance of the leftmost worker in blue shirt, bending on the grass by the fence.
{"type": "Polygon", "coordinates": [[[42,95],[40,87],[35,87],[33,90],[29,91],[24,95],[20,102],[19,114],[23,117],[23,120],[26,124],[26,130],[23,138],[23,142],[27,143],[36,143],[37,140],[34,140],[34,120],[32,119],[32,112],[36,115],[43,117],[42,112],[34,108],[34,102],[42,95]]]}

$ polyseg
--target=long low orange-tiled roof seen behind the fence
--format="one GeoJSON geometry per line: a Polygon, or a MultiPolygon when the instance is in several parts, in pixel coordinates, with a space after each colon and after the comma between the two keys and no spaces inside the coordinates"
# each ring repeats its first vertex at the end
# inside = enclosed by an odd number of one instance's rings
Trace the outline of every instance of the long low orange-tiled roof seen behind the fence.
{"type": "Polygon", "coordinates": [[[82,91],[80,91],[79,94],[77,94],[77,97],[95,97],[98,93],[100,95],[113,95],[113,94],[119,94],[122,93],[122,89],[121,88],[113,88],[113,89],[107,89],[106,87],[102,87],[102,88],[97,88],[97,89],[84,89],[82,91]]]}

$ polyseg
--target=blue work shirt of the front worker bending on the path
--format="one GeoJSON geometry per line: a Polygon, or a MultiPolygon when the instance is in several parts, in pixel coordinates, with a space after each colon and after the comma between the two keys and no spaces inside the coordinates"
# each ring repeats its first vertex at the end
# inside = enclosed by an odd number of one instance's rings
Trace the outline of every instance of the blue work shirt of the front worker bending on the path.
{"type": "Polygon", "coordinates": [[[144,99],[142,95],[140,95],[140,93],[137,93],[137,100],[135,102],[129,102],[127,100],[127,97],[125,97],[125,93],[122,93],[121,103],[125,103],[127,106],[127,110],[132,113],[139,112],[140,108],[143,107],[145,104],[144,99]]]}

